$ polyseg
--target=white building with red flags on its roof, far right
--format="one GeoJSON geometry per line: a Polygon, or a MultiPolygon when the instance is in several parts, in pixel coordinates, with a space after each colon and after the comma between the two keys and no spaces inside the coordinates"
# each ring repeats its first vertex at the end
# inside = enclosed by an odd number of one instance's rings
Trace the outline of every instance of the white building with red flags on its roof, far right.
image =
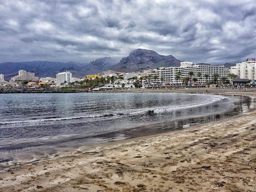
{"type": "Polygon", "coordinates": [[[230,68],[230,73],[238,75],[238,79],[255,79],[255,67],[256,61],[252,59],[251,61],[247,60],[242,63],[236,63],[236,66],[230,68]]]}

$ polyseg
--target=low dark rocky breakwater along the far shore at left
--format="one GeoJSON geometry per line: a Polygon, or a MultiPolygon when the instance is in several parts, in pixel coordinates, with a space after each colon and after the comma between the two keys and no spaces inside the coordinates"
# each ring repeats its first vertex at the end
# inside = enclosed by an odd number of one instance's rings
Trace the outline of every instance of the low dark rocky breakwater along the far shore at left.
{"type": "Polygon", "coordinates": [[[85,89],[31,89],[16,87],[1,87],[0,93],[76,93],[86,92],[85,89]]]}

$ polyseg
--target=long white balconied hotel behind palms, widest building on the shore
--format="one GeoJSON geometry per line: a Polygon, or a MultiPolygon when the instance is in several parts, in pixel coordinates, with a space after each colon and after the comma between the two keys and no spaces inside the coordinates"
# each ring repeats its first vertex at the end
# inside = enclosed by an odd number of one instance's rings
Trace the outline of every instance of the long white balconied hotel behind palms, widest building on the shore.
{"type": "Polygon", "coordinates": [[[205,74],[209,75],[207,82],[211,82],[213,80],[212,76],[215,73],[220,75],[218,81],[220,81],[221,77],[228,77],[229,74],[229,69],[225,68],[224,65],[193,65],[192,62],[180,62],[180,67],[161,67],[159,69],[154,69],[151,73],[148,73],[148,76],[151,75],[150,82],[153,83],[155,83],[155,79],[153,77],[156,75],[158,77],[156,83],[181,84],[182,78],[189,77],[190,71],[194,72],[192,79],[196,77],[199,84],[206,84],[206,78],[204,77],[205,74]],[[176,79],[178,72],[181,72],[179,80],[176,79]],[[197,76],[198,72],[202,74],[200,78],[197,76]],[[161,81],[161,77],[163,77],[163,81],[161,81]]]}

